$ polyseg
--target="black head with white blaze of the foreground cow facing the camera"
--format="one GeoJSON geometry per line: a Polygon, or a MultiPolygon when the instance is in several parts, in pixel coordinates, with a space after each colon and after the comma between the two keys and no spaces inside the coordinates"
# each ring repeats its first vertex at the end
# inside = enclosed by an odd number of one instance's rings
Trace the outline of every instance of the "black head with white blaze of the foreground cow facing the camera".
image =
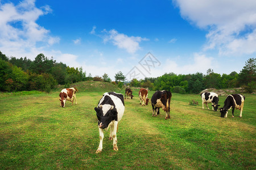
{"type": "Polygon", "coordinates": [[[104,104],[94,108],[98,117],[98,127],[108,128],[111,121],[117,121],[117,109],[113,105],[104,104]]]}

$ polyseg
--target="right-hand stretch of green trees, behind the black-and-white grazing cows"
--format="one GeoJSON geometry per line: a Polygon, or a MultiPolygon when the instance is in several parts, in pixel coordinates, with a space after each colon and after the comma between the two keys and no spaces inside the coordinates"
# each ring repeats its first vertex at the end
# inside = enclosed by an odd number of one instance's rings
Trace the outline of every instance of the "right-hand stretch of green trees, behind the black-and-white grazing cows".
{"type": "Polygon", "coordinates": [[[254,92],[256,88],[256,59],[250,58],[238,74],[233,71],[230,74],[214,73],[212,69],[207,74],[179,74],[165,73],[158,78],[145,78],[144,80],[133,79],[129,83],[134,87],[148,87],[150,90],[170,90],[180,94],[198,94],[206,88],[236,88],[243,87],[246,92],[254,92]]]}

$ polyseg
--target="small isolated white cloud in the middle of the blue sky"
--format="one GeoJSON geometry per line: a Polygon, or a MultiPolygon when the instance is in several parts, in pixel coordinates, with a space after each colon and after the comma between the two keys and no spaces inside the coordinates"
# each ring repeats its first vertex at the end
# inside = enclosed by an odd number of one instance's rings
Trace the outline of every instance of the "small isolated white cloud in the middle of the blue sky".
{"type": "Polygon", "coordinates": [[[114,45],[118,46],[118,48],[125,49],[128,53],[135,53],[137,50],[141,49],[139,46],[139,42],[141,41],[148,41],[146,38],[142,37],[134,37],[134,36],[127,36],[123,33],[118,33],[115,29],[110,31],[102,31],[105,33],[104,35],[104,42],[112,42],[114,45]]]}

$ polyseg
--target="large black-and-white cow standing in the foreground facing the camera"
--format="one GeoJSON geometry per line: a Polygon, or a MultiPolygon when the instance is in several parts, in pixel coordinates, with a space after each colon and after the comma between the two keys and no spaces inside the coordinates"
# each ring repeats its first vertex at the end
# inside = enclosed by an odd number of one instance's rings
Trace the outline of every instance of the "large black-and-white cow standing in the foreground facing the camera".
{"type": "Polygon", "coordinates": [[[102,151],[103,129],[105,128],[106,130],[110,128],[109,140],[113,139],[113,149],[117,151],[117,126],[122,119],[123,112],[125,112],[123,95],[115,92],[106,92],[98,102],[98,107],[94,108],[94,110],[97,113],[98,129],[100,131],[100,145],[96,154],[102,151]]]}

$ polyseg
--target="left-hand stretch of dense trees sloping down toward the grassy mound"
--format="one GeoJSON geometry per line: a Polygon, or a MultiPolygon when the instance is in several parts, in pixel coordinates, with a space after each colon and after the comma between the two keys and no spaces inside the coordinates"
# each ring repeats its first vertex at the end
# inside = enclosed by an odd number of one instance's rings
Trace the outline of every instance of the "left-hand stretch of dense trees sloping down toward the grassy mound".
{"type": "Polygon", "coordinates": [[[38,54],[34,61],[24,58],[6,57],[0,52],[0,91],[49,92],[57,84],[69,84],[91,79],[82,67],[69,67],[57,63],[53,58],[38,54]]]}

